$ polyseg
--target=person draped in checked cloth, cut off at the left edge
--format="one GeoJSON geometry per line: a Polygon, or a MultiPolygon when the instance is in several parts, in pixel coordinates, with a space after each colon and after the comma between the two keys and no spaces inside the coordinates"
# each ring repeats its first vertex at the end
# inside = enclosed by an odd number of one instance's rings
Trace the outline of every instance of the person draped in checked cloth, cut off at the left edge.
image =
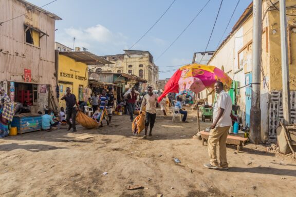
{"type": "Polygon", "coordinates": [[[9,134],[8,123],[12,118],[12,103],[4,88],[0,87],[0,138],[9,134]]]}

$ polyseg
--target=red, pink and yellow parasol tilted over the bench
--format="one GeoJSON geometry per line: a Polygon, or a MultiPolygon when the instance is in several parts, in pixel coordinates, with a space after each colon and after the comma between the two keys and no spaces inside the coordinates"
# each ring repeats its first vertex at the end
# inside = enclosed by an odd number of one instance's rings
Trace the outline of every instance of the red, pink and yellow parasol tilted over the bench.
{"type": "Polygon", "coordinates": [[[226,90],[230,89],[231,78],[215,66],[200,64],[182,66],[165,85],[163,93],[158,97],[158,102],[168,93],[179,93],[185,90],[198,93],[204,89],[212,92],[217,81],[222,82],[226,90]]]}

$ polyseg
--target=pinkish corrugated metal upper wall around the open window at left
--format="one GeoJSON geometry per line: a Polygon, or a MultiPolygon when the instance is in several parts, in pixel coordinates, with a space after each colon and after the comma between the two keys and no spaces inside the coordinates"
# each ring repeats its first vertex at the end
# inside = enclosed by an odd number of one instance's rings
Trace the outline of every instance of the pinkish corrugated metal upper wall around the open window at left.
{"type": "MultiPolygon", "coordinates": [[[[0,1],[0,22],[28,12],[26,6],[16,0],[0,1]]],[[[1,81],[23,81],[24,69],[31,70],[32,82],[50,84],[55,88],[53,18],[32,10],[0,26],[0,77],[1,81]],[[40,47],[25,43],[25,27],[29,24],[45,33],[40,47]]]]}

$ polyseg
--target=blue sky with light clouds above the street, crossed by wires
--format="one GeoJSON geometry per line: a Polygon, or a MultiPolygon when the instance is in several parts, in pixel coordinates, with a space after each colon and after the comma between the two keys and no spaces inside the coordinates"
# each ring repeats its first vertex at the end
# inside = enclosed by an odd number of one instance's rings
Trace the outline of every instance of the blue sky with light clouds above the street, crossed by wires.
{"type": "MultiPolygon", "coordinates": [[[[43,6],[52,0],[27,0],[43,6]]],[[[223,0],[208,51],[215,50],[238,0],[223,0]]],[[[192,63],[193,53],[205,51],[221,0],[211,0],[191,26],[167,49],[188,26],[208,0],[176,0],[160,21],[132,50],[147,50],[159,67],[159,79],[169,78],[178,65],[192,63]],[[173,71],[170,71],[173,70],[173,71]]],[[[241,0],[224,38],[251,3],[241,0]]],[[[96,55],[124,53],[157,21],[173,0],[58,0],[43,9],[62,18],[55,22],[55,41],[84,47],[96,55]]]]}

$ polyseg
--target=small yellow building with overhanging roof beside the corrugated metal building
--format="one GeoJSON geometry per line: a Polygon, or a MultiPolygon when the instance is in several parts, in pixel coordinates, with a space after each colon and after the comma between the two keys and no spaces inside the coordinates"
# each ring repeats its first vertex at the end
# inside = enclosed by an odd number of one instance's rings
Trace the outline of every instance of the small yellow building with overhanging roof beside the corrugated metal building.
{"type": "MultiPolygon", "coordinates": [[[[78,101],[85,101],[85,88],[88,88],[88,65],[102,65],[110,62],[88,51],[59,52],[58,55],[58,84],[60,98],[70,87],[78,101]]],[[[56,58],[57,60],[57,58],[56,58]]],[[[59,100],[59,106],[65,107],[65,101],[59,100]]]]}

